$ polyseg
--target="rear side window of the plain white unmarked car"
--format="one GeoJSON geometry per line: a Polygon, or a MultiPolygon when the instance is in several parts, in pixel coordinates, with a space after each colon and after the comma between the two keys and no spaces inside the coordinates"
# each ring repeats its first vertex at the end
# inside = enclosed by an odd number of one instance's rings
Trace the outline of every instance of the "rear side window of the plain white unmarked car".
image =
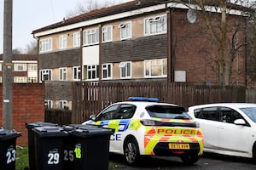
{"type": "Polygon", "coordinates": [[[195,117],[200,119],[206,119],[211,121],[219,121],[218,107],[207,107],[202,109],[196,109],[194,111],[195,117]]]}

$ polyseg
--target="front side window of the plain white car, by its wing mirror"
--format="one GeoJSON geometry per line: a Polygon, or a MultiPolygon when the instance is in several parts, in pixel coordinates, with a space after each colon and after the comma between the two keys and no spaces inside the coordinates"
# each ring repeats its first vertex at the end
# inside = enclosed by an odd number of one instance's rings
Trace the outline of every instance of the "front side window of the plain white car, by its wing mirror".
{"type": "Polygon", "coordinates": [[[221,121],[234,123],[236,119],[242,119],[242,116],[237,112],[228,107],[220,107],[221,121]]]}

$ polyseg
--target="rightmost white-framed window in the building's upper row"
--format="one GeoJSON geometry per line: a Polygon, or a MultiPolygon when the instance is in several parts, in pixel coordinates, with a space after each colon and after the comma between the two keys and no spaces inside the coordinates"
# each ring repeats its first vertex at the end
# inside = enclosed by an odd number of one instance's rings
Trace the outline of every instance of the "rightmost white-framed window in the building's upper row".
{"type": "Polygon", "coordinates": [[[166,14],[144,19],[144,35],[151,36],[167,32],[166,14]]]}

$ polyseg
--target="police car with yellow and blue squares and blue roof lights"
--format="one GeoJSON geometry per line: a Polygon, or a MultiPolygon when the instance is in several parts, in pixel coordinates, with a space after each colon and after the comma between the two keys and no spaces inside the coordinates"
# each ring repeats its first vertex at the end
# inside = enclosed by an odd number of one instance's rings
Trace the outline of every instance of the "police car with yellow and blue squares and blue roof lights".
{"type": "Polygon", "coordinates": [[[130,97],[90,116],[83,124],[113,128],[109,151],[125,156],[129,165],[140,156],[179,156],[187,164],[203,153],[198,124],[178,105],[156,98],[130,97]]]}

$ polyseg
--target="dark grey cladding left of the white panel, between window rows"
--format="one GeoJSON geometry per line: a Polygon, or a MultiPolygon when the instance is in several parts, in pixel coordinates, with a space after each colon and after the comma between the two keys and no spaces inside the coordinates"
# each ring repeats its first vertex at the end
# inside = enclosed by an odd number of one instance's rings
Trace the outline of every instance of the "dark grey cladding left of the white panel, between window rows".
{"type": "Polygon", "coordinates": [[[42,69],[52,69],[68,66],[80,65],[80,48],[53,53],[39,54],[38,67],[42,69]]]}

